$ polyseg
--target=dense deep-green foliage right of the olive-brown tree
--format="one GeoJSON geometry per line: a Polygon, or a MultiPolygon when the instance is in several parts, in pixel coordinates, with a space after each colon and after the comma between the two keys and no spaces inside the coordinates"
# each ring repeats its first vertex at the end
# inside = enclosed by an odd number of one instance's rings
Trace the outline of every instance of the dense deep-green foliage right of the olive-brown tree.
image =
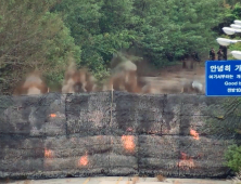
{"type": "Polygon", "coordinates": [[[158,66],[166,53],[206,53],[215,43],[212,28],[224,18],[221,0],[63,0],[54,11],[64,12],[83,62],[94,71],[122,49],[139,50],[158,66]]]}

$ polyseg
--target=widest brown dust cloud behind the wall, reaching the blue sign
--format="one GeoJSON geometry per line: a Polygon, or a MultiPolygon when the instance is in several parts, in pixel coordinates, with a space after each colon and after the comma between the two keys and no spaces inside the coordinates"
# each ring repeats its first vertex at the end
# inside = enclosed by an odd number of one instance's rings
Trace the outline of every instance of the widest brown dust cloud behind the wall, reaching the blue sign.
{"type": "Polygon", "coordinates": [[[142,94],[204,93],[204,67],[194,61],[185,61],[183,65],[161,70],[144,61],[134,63],[127,56],[114,63],[103,91],[113,87],[116,91],[142,94]]]}

